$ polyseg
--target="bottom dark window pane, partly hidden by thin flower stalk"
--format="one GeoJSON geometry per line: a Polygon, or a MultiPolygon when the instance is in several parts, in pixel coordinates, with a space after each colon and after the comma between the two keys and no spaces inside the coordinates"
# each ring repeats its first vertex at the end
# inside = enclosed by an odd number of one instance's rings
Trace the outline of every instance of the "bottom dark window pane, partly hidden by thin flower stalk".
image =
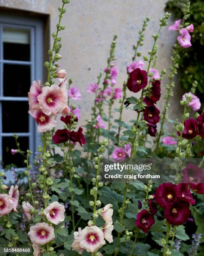
{"type": "MultiPolygon", "coordinates": [[[[19,137],[18,142],[20,143],[20,149],[25,151],[29,148],[28,137],[19,137]]],[[[24,157],[20,154],[11,154],[11,149],[16,149],[15,138],[13,137],[2,137],[2,161],[5,167],[8,164],[15,164],[17,167],[25,167],[23,163],[24,157]]]]}

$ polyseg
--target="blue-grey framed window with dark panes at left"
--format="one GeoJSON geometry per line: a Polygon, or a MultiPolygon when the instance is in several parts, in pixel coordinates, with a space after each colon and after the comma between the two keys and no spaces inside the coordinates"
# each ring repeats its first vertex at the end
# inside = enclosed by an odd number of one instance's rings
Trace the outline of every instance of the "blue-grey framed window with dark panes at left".
{"type": "Polygon", "coordinates": [[[27,92],[33,80],[42,80],[42,23],[10,17],[0,17],[0,168],[25,165],[19,154],[11,154],[11,148],[16,148],[13,133],[23,151],[35,152],[40,140],[28,114],[27,92]]]}

